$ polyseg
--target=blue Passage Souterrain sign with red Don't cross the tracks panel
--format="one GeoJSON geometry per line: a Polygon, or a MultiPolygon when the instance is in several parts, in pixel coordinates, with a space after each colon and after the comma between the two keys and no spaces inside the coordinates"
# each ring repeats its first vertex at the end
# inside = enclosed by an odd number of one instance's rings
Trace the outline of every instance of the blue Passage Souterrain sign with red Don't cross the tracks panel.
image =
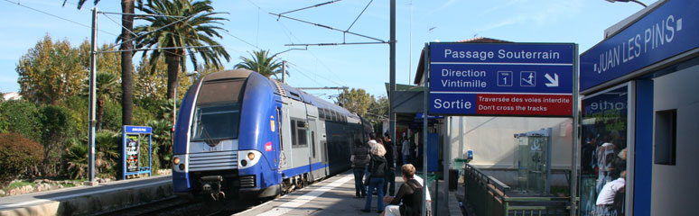
{"type": "Polygon", "coordinates": [[[430,114],[571,116],[573,43],[430,43],[430,114]]]}

